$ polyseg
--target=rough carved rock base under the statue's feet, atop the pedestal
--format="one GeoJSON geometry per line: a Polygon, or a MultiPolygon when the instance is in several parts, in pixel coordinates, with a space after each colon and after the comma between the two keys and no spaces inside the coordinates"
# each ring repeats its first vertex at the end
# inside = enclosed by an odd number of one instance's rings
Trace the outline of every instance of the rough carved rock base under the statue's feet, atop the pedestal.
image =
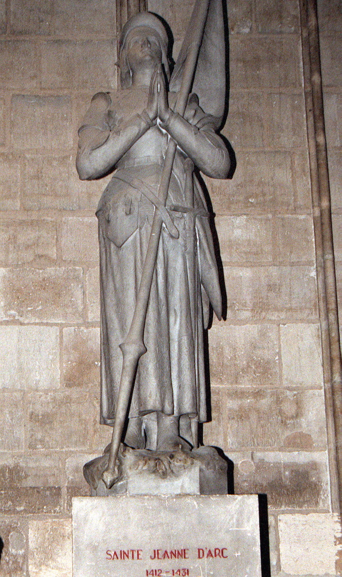
{"type": "Polygon", "coordinates": [[[226,494],[228,465],[214,447],[199,447],[191,452],[131,449],[121,444],[118,454],[120,478],[107,489],[101,475],[109,458],[108,447],[102,456],[85,463],[83,474],[91,496],[117,494],[226,494]]]}

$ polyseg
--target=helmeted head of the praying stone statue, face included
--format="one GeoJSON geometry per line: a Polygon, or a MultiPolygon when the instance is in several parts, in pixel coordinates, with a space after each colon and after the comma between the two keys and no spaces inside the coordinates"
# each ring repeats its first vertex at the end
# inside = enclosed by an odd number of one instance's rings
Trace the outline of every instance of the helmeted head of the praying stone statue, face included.
{"type": "Polygon", "coordinates": [[[132,62],[139,66],[151,66],[161,63],[166,76],[170,77],[168,62],[169,39],[166,29],[157,16],[151,12],[140,12],[132,16],[122,28],[119,48],[120,81],[122,88],[132,84],[132,62]],[[149,48],[138,48],[139,39],[149,44],[149,48]],[[131,65],[130,65],[131,62],[131,65]]]}

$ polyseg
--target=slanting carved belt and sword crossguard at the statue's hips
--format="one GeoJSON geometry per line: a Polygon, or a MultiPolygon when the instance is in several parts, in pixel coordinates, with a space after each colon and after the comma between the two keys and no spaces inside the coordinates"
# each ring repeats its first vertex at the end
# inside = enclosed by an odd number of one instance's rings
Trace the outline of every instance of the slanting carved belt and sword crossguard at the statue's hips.
{"type": "Polygon", "coordinates": [[[203,216],[205,218],[210,217],[209,212],[200,208],[182,207],[178,204],[173,204],[170,205],[170,207],[166,208],[161,202],[161,200],[158,198],[158,196],[154,193],[153,188],[147,185],[146,182],[143,182],[140,178],[132,178],[132,180],[127,181],[124,178],[114,175],[113,179],[124,182],[128,186],[131,186],[131,188],[133,188],[134,190],[137,190],[138,192],[142,193],[147,198],[147,200],[149,200],[150,203],[152,203],[155,206],[155,208],[160,212],[163,223],[168,229],[170,235],[174,238],[179,238],[179,231],[173,223],[173,220],[170,216],[170,212],[190,213],[195,218],[196,216],[203,216]]]}

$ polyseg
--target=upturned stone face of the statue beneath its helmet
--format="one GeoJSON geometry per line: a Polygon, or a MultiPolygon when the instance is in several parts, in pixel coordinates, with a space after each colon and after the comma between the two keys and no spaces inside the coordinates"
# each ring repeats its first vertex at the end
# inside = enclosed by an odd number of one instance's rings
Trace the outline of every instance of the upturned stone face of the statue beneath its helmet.
{"type": "Polygon", "coordinates": [[[162,62],[162,49],[158,35],[152,28],[135,28],[126,40],[127,59],[131,70],[154,69],[162,62]]]}

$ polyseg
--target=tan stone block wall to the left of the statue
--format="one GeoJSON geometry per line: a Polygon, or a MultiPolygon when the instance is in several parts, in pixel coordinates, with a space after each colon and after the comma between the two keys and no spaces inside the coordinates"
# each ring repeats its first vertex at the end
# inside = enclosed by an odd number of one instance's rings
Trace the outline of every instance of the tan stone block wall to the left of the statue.
{"type": "Polygon", "coordinates": [[[70,577],[73,494],[99,425],[95,209],[77,127],[116,89],[110,0],[0,0],[1,577],[70,577]]]}

